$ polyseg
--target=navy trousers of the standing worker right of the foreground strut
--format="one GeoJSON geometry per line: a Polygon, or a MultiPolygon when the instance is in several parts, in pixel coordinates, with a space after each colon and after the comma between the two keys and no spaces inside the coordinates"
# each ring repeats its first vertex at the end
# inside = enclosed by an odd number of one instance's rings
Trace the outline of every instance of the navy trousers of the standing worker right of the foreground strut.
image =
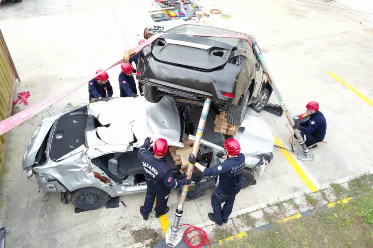
{"type": "Polygon", "coordinates": [[[223,222],[223,220],[228,220],[229,215],[232,213],[234,200],[236,199],[236,194],[240,192],[238,190],[234,194],[224,195],[220,193],[219,186],[212,192],[211,195],[211,206],[214,211],[215,219],[217,222],[223,222]],[[221,204],[224,203],[223,211],[221,210],[221,204]]]}

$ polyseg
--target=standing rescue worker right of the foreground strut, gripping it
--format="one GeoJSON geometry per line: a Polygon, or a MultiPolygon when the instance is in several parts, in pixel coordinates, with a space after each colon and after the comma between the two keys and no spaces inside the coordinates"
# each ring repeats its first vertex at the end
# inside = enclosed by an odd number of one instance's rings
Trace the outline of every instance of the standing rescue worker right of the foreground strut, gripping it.
{"type": "Polygon", "coordinates": [[[219,175],[219,185],[211,195],[211,206],[214,213],[208,213],[208,218],[219,226],[228,222],[236,194],[241,190],[242,173],[245,168],[245,156],[240,153],[241,147],[236,139],[227,139],[224,142],[224,148],[228,155],[224,155],[224,153],[216,155],[219,158],[224,158],[225,161],[219,166],[210,168],[197,163],[193,154],[189,155],[189,163],[193,164],[204,175],[219,175]],[[221,207],[221,204],[224,202],[224,206],[221,207]]]}

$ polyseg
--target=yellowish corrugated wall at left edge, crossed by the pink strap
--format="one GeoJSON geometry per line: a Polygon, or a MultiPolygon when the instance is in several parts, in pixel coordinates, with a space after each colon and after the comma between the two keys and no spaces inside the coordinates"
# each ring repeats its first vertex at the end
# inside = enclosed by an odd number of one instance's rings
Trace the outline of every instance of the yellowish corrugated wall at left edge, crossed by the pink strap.
{"type": "MultiPolygon", "coordinates": [[[[19,80],[0,30],[0,121],[5,120],[11,114],[14,86],[17,78],[19,80]]],[[[0,181],[5,160],[6,138],[7,133],[0,136],[0,181]]]]}

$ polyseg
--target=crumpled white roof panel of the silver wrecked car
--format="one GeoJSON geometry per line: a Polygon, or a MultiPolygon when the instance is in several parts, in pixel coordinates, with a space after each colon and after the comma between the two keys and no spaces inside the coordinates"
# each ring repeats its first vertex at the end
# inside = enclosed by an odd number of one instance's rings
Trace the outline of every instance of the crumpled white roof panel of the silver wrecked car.
{"type": "Polygon", "coordinates": [[[86,133],[87,155],[91,158],[140,147],[148,136],[151,140],[164,138],[170,145],[183,147],[179,142],[179,112],[172,97],[165,96],[156,104],[143,97],[114,98],[90,104],[88,114],[102,124],[86,133]]]}

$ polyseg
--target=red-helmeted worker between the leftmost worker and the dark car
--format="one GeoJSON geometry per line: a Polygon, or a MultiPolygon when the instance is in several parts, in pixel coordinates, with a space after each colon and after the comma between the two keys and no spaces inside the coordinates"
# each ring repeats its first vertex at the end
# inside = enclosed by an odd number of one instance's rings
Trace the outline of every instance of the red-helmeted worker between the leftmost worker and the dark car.
{"type": "Polygon", "coordinates": [[[122,62],[122,71],[119,74],[120,97],[137,97],[135,79],[132,76],[132,65],[122,62]]]}

